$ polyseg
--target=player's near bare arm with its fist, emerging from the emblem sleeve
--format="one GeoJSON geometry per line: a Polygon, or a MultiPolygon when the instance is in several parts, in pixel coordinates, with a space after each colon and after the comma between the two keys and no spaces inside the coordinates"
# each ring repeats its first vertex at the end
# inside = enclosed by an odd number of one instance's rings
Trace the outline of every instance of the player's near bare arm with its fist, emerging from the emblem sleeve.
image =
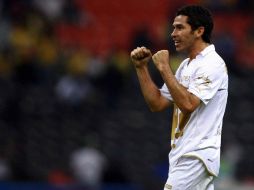
{"type": "Polygon", "coordinates": [[[184,114],[193,112],[201,101],[177,81],[169,65],[169,52],[167,50],[158,51],[152,58],[171,93],[174,103],[184,114]]]}

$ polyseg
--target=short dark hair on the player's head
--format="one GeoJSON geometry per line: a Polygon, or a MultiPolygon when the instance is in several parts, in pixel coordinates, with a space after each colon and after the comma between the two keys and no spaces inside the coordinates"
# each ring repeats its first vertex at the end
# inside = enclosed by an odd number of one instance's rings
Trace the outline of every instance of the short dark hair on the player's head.
{"type": "Polygon", "coordinates": [[[199,5],[188,5],[180,8],[176,16],[184,15],[188,17],[187,23],[191,25],[192,30],[196,30],[203,26],[205,28],[202,39],[211,43],[211,35],[213,30],[213,19],[210,11],[199,5]]]}

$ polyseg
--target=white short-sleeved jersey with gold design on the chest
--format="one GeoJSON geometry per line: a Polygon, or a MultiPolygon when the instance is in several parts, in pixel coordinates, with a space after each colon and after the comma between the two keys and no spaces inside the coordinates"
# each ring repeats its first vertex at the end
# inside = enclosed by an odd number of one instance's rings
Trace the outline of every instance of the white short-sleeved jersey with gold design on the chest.
{"type": "MultiPolygon", "coordinates": [[[[175,77],[201,104],[191,114],[183,114],[174,104],[169,164],[182,156],[200,159],[211,175],[220,167],[222,120],[227,104],[228,74],[223,59],[210,45],[189,62],[184,60],[175,77]]],[[[162,95],[174,102],[164,84],[162,95]]]]}

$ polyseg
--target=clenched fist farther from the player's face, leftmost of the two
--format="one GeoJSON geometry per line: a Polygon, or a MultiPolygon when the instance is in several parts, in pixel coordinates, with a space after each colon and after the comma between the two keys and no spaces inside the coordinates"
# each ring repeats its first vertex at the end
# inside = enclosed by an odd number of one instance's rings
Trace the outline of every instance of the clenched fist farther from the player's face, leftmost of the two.
{"type": "Polygon", "coordinates": [[[152,53],[146,47],[137,47],[131,52],[131,60],[136,68],[147,65],[152,57],[152,53]]]}

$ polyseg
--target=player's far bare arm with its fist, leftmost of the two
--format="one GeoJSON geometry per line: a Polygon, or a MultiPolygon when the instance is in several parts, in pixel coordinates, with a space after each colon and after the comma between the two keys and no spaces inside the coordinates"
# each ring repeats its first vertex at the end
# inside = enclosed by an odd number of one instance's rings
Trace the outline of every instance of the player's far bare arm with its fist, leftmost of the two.
{"type": "Polygon", "coordinates": [[[151,51],[145,47],[137,47],[130,56],[137,72],[141,91],[150,110],[156,112],[169,107],[171,102],[161,95],[148,71],[147,64],[152,57],[151,51]]]}

